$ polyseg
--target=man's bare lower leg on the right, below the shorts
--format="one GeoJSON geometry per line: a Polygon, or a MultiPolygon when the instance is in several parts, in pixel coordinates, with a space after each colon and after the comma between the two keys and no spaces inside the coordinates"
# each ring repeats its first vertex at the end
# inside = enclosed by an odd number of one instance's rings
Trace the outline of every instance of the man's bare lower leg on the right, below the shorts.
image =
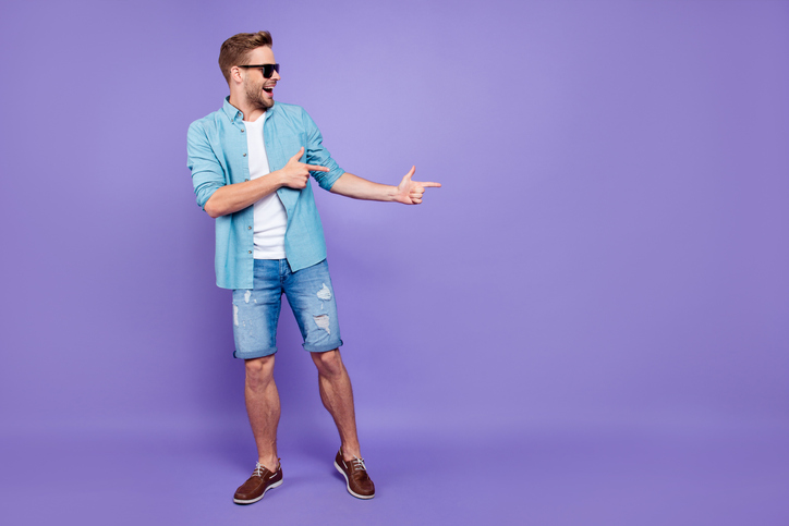
{"type": "Polygon", "coordinates": [[[340,432],[342,456],[351,461],[362,457],[356,436],[356,416],[353,409],[353,390],[348,370],[342,364],[340,351],[335,348],[326,353],[311,353],[318,368],[320,400],[335,419],[340,432]]]}

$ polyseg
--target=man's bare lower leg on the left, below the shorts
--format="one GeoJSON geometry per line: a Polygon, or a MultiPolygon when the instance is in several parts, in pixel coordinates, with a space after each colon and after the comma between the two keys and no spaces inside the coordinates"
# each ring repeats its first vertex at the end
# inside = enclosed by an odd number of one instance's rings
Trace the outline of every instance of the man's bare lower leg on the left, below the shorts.
{"type": "Polygon", "coordinates": [[[269,472],[279,468],[277,457],[277,426],[279,425],[279,392],[274,382],[274,355],[247,359],[244,399],[252,435],[257,444],[257,461],[269,472]]]}

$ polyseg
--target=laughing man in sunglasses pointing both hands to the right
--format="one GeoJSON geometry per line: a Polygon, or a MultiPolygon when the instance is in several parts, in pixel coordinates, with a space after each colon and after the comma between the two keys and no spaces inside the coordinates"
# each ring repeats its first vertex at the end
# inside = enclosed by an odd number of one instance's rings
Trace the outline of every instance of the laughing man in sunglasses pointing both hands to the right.
{"type": "Polygon", "coordinates": [[[245,401],[257,444],[252,476],[235,491],[257,502],[282,484],[277,456],[280,404],[274,381],[281,295],[299,322],[318,369],[320,399],[340,433],[335,466],[348,491],[375,497],[356,437],[353,393],[339,347],[340,327],[326,244],[309,175],[321,188],[356,199],[418,205],[425,187],[366,181],[343,171],[300,107],[274,101],[281,79],[268,32],[241,33],[222,44],[219,68],[230,87],[223,107],[189,129],[189,168],[197,204],[216,218],[217,285],[233,291],[234,356],[246,365],[245,401]]]}

